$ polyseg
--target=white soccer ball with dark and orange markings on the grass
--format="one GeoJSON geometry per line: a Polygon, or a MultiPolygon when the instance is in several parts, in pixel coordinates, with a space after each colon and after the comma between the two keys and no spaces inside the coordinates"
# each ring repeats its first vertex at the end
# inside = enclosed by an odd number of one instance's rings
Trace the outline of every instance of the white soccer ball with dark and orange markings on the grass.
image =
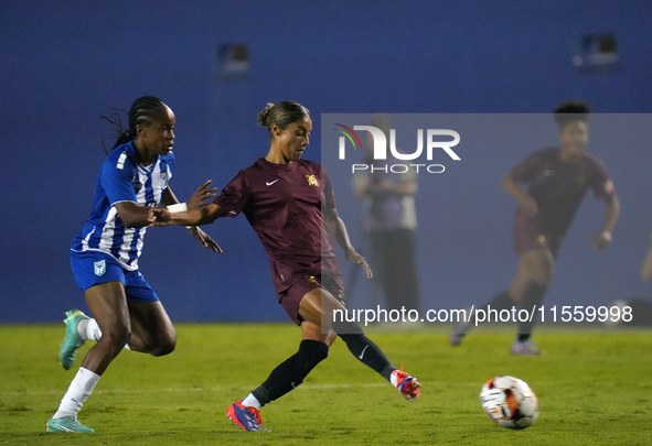
{"type": "Polygon", "coordinates": [[[487,416],[509,429],[532,426],[538,416],[538,401],[530,385],[519,378],[493,377],[482,385],[480,404],[487,416]]]}

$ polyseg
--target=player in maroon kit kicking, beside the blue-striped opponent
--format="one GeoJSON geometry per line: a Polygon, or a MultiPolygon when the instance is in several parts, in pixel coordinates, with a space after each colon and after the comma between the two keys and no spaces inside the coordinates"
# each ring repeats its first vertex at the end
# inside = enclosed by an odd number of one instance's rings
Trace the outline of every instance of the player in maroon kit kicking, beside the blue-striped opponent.
{"type": "Polygon", "coordinates": [[[267,251],[278,301],[301,328],[299,351],[248,396],[232,404],[227,417],[245,431],[265,431],[259,409],[298,387],[328,357],[338,336],[411,402],[420,396],[419,382],[396,369],[359,324],[333,320],[333,312],[345,312],[345,307],[331,235],[346,260],[360,264],[367,278],[372,272],[351,246],[327,172],[318,163],[301,160],[312,130],[308,109],[292,101],[270,104],[258,115],[258,122],[269,131],[269,153],[241,171],[211,204],[183,213],[150,213],[152,226],[201,226],[244,213],[267,251]]]}

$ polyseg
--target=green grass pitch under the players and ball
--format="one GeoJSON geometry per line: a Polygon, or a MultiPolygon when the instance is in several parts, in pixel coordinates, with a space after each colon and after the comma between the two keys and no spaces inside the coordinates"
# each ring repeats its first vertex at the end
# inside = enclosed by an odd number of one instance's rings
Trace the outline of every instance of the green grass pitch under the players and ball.
{"type": "Polygon", "coordinates": [[[0,326],[0,444],[11,445],[649,445],[652,334],[539,334],[543,357],[513,357],[513,335],[477,334],[451,348],[442,334],[373,334],[421,381],[409,404],[338,340],[293,392],[263,409],[270,433],[246,433],[226,407],[292,355],[290,325],[178,324],[163,358],[124,351],[82,409],[94,434],[45,434],[81,359],[64,371],[63,325],[0,326]],[[478,399],[493,376],[525,380],[539,400],[530,428],[493,424],[478,399]]]}

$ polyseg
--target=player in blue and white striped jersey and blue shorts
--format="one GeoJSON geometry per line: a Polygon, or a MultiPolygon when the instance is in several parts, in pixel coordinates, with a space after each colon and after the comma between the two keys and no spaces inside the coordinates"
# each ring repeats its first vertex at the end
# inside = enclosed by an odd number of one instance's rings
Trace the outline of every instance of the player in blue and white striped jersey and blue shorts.
{"type": "MultiPolygon", "coordinates": [[[[160,99],[145,96],[131,105],[128,130],[116,123],[120,134],[100,166],[93,211],[71,246],[75,282],[95,318],[78,309],[66,312],[60,349],[63,368],[73,366],[87,339],[97,344],[84,357],[46,432],[93,432],[77,421],[77,413],[122,348],[163,356],[177,344],[163,305],[138,270],[149,209],[159,204],[180,206],[168,186],[174,165],[174,113],[160,99]]],[[[213,196],[201,188],[181,206],[199,207],[213,196]]],[[[220,250],[201,229],[190,231],[204,248],[220,250]]]]}

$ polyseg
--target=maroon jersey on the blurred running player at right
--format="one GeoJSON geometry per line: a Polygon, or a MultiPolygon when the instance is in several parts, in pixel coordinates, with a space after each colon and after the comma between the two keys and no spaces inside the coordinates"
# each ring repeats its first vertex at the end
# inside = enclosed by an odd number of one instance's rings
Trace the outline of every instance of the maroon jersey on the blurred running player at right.
{"type": "MultiPolygon", "coordinates": [[[[536,200],[536,227],[543,232],[563,237],[587,189],[596,198],[607,199],[614,193],[602,162],[582,153],[576,163],[562,161],[562,149],[544,149],[533,153],[512,170],[515,180],[528,183],[528,194],[536,200]]],[[[516,218],[530,219],[519,206],[516,218]]]]}

